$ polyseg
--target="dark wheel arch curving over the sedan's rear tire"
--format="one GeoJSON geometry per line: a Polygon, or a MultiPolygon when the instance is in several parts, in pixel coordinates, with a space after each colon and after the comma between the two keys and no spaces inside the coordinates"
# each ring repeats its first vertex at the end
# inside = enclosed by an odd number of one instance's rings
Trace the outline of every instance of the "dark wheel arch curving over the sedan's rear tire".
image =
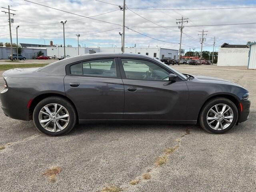
{"type": "Polygon", "coordinates": [[[72,102],[72,100],[70,100],[70,98],[68,98],[67,96],[65,95],[62,95],[62,94],[58,94],[58,93],[44,93],[44,94],[40,94],[38,96],[36,96],[31,104],[30,104],[30,107],[29,107],[29,120],[32,120],[33,119],[33,112],[34,112],[34,109],[36,107],[36,105],[42,101],[43,99],[47,98],[47,97],[52,97],[52,96],[57,96],[57,97],[60,97],[60,98],[64,98],[66,100],[68,100],[72,106],[74,107],[75,109],[75,112],[76,112],[76,116],[77,116],[77,119],[78,119],[78,112],[76,110],[76,106],[75,104],[72,102]]]}

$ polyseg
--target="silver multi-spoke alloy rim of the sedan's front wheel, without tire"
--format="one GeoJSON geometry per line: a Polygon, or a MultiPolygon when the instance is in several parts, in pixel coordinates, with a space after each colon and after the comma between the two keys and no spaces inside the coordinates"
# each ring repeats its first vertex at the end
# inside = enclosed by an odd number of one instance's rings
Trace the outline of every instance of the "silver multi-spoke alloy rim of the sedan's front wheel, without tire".
{"type": "Polygon", "coordinates": [[[226,104],[214,105],[207,113],[206,120],[210,128],[224,130],[230,126],[234,118],[233,110],[226,104]]]}

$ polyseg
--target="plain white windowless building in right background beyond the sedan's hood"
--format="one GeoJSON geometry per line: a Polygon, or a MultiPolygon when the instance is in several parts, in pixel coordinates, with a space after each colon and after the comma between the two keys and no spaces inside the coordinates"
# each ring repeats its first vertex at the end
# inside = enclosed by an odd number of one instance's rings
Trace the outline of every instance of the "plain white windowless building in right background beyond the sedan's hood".
{"type": "Polygon", "coordinates": [[[218,52],[218,66],[247,66],[248,45],[229,45],[224,43],[218,52]]]}

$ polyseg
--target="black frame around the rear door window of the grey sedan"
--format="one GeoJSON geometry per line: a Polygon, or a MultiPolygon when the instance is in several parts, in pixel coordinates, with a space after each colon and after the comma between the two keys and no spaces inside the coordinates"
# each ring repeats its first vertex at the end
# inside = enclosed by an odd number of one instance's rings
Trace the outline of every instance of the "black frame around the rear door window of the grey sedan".
{"type": "Polygon", "coordinates": [[[81,77],[96,77],[96,78],[114,78],[114,79],[120,79],[121,78],[121,73],[120,73],[120,68],[119,68],[119,64],[118,64],[118,59],[116,57],[99,57],[99,58],[90,58],[90,59],[85,59],[85,60],[80,60],[77,62],[73,62],[70,64],[66,65],[66,75],[70,75],[70,76],[81,76],[81,77]],[[70,72],[70,66],[75,65],[75,64],[81,64],[82,67],[82,63],[83,62],[88,62],[88,61],[93,61],[93,60],[103,60],[103,59],[113,59],[115,64],[116,64],[116,77],[103,77],[103,76],[92,76],[92,75],[84,75],[84,74],[71,74],[70,72]]]}

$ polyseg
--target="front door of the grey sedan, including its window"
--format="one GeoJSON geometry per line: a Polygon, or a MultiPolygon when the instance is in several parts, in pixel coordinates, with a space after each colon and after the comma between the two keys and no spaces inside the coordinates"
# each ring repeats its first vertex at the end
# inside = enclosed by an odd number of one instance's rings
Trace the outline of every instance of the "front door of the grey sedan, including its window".
{"type": "Polygon", "coordinates": [[[124,82],[124,119],[184,120],[188,86],[158,62],[139,58],[118,58],[124,82]]]}

